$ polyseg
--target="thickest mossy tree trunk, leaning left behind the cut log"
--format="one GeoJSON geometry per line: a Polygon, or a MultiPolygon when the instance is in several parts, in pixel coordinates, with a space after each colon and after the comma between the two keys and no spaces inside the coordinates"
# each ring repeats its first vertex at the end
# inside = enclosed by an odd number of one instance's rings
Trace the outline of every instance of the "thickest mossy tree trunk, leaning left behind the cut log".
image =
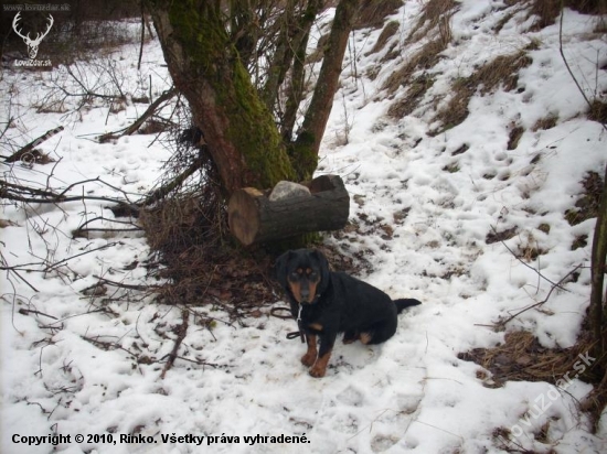
{"type": "Polygon", "coordinates": [[[221,2],[150,3],[169,72],[204,134],[225,193],[292,180],[274,118],[224,28],[221,2]]]}

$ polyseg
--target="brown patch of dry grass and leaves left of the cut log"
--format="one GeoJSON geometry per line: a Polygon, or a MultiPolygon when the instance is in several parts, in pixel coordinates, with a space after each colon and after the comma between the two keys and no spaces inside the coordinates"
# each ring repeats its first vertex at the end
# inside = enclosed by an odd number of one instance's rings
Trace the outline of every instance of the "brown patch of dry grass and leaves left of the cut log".
{"type": "Polygon", "coordinates": [[[166,283],[156,292],[166,304],[221,306],[232,318],[275,301],[270,258],[246,252],[227,238],[225,209],[212,190],[164,199],[140,221],[166,283]],[[214,201],[213,201],[214,199],[214,201]]]}

